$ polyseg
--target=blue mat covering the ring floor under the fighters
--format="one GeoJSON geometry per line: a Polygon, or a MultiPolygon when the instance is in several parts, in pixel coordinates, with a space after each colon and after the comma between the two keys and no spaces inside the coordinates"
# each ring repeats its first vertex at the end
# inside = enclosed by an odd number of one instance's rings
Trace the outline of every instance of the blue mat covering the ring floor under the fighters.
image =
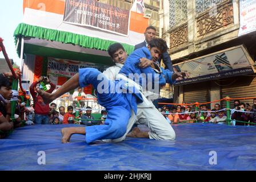
{"type": "Polygon", "coordinates": [[[62,144],[61,128],[71,126],[77,125],[16,129],[0,140],[0,170],[256,170],[255,126],[187,123],[173,126],[174,141],[127,138],[89,145],[83,135],[73,135],[62,144]],[[45,152],[45,165],[38,164],[38,151],[45,152]],[[210,151],[217,164],[209,163],[210,151]]]}

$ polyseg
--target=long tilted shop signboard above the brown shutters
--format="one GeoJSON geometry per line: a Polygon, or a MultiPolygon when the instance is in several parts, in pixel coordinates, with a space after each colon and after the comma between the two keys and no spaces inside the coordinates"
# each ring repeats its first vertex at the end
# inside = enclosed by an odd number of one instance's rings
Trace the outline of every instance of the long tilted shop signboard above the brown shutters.
{"type": "Polygon", "coordinates": [[[243,46],[237,46],[197,59],[174,64],[174,71],[186,71],[189,77],[177,80],[175,85],[215,80],[255,73],[254,61],[243,46]]]}

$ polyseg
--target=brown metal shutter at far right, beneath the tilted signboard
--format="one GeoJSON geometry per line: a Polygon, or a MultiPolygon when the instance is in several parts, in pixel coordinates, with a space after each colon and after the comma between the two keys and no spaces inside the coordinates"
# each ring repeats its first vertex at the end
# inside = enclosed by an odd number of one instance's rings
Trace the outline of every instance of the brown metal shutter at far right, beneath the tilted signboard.
{"type": "MultiPolygon", "coordinates": [[[[238,97],[256,97],[256,77],[243,76],[227,78],[221,82],[221,98],[229,96],[238,97]]],[[[253,105],[253,100],[240,100],[242,103],[253,105]]],[[[222,101],[222,107],[226,107],[226,101],[222,101]]],[[[234,108],[233,101],[230,101],[230,108],[234,108]]]]}

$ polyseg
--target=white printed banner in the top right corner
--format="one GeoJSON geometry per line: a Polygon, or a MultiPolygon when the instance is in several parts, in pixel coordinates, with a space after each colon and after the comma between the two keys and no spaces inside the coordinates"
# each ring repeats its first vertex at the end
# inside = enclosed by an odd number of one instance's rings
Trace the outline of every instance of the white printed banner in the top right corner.
{"type": "Polygon", "coordinates": [[[256,30],[256,0],[240,0],[240,29],[238,36],[256,30]]]}

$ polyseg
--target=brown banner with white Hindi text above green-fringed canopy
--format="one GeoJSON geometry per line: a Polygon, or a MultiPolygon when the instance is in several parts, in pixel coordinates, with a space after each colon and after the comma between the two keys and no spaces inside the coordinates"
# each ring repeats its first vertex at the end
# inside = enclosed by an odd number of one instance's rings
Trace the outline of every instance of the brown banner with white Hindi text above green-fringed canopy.
{"type": "Polygon", "coordinates": [[[129,10],[94,0],[66,0],[63,22],[128,36],[129,16],[129,10]]]}

